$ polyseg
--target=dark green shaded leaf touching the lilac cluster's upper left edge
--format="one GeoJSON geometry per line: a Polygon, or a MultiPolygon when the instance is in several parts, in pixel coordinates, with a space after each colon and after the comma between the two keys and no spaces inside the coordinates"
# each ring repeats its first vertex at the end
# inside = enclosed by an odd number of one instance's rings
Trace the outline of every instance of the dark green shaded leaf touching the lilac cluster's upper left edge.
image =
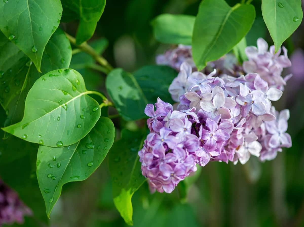
{"type": "Polygon", "coordinates": [[[149,103],[155,103],[158,97],[165,102],[174,102],[168,90],[177,74],[169,66],[143,66],[133,73],[149,103]]]}

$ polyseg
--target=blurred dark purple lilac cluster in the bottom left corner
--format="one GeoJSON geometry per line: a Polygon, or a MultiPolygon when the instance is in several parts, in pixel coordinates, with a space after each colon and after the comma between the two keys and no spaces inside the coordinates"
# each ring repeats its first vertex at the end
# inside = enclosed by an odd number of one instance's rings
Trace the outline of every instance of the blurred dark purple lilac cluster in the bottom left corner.
{"type": "Polygon", "coordinates": [[[32,215],[18,195],[0,180],[0,226],[11,225],[14,222],[22,224],[25,215],[32,215]]]}

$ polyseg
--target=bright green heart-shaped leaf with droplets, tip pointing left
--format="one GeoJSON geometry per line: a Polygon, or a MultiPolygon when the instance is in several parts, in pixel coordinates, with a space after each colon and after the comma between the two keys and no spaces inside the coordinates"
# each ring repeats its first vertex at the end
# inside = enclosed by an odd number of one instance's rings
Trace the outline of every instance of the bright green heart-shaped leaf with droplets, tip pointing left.
{"type": "Polygon", "coordinates": [[[3,128],[32,143],[62,147],[85,137],[100,117],[82,76],[73,69],[50,71],[29,90],[21,122],[3,128]]]}

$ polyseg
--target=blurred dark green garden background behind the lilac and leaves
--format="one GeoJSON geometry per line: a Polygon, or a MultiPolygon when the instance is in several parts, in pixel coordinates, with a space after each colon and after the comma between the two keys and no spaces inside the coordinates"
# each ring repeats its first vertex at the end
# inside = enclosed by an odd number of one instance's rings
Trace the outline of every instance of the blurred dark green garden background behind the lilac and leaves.
{"type": "MultiPolygon", "coordinates": [[[[226,0],[230,5],[240,1],[226,0]]],[[[170,48],[153,37],[151,20],[161,13],[196,15],[200,0],[109,0],[91,44],[107,42],[103,56],[112,66],[134,71],[155,64],[157,54],[170,48]],[[104,39],[105,38],[105,39],[104,39]]],[[[247,34],[247,44],[263,37],[272,45],[261,15],[261,0],[252,2],[257,17],[247,34]]],[[[74,35],[77,22],[63,24],[74,35]]],[[[284,43],[293,73],[277,110],[290,109],[288,133],[293,146],[273,161],[261,163],[254,156],[246,165],[210,162],[182,199],[171,194],[150,194],[147,183],[134,194],[134,226],[304,226],[304,24],[284,43]]],[[[105,75],[85,62],[88,56],[75,53],[71,68],[81,72],[89,90],[103,91],[105,75]]],[[[90,60],[88,60],[90,62],[90,60]]],[[[91,62],[92,63],[92,62],[91,62]]],[[[112,112],[113,110],[110,109],[112,112]]],[[[115,114],[115,112],[112,112],[115,114]]],[[[126,123],[114,119],[117,128],[135,128],[145,122],[126,123]]],[[[117,130],[119,135],[119,130],[117,130]]],[[[86,181],[69,183],[50,218],[51,226],[126,226],[112,200],[106,159],[86,181]]]]}

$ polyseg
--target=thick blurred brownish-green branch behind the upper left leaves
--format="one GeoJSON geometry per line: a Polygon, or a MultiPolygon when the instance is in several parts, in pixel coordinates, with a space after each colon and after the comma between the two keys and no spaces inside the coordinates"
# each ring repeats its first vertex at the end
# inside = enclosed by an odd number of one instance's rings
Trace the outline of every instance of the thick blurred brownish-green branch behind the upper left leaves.
{"type": "Polygon", "coordinates": [[[107,73],[109,73],[113,67],[109,64],[109,62],[104,59],[102,56],[100,56],[98,53],[96,53],[96,51],[90,46],[88,45],[86,42],[77,45],[76,44],[76,39],[67,34],[65,32],[65,35],[67,36],[67,38],[69,39],[69,41],[71,42],[71,44],[73,44],[74,46],[76,46],[77,48],[79,48],[81,51],[86,52],[87,54],[91,55],[96,62],[98,62],[101,66],[104,66],[107,69],[107,73]]]}

